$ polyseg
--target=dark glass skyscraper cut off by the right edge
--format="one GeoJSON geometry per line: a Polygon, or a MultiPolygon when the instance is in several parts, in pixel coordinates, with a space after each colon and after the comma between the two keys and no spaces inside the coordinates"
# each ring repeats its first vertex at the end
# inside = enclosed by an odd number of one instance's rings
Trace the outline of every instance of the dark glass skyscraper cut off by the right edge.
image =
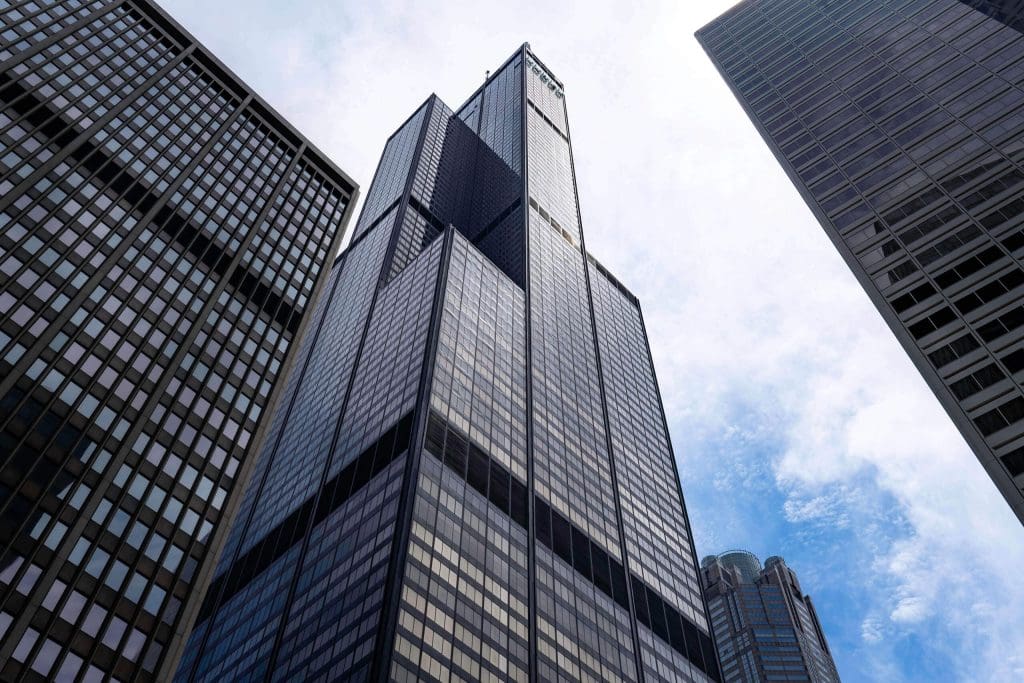
{"type": "Polygon", "coordinates": [[[1024,14],[749,0],[697,39],[1024,522],[1024,14]]]}

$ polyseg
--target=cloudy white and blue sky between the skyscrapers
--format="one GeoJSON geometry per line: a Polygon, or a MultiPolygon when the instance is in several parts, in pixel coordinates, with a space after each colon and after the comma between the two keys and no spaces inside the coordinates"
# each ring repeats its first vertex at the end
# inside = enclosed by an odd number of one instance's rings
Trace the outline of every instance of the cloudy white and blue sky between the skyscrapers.
{"type": "Polygon", "coordinates": [[[731,2],[162,4],[364,193],[431,92],[528,41],[588,249],[643,305],[698,556],[783,556],[846,683],[1024,679],[1024,528],[693,38],[731,2]]]}

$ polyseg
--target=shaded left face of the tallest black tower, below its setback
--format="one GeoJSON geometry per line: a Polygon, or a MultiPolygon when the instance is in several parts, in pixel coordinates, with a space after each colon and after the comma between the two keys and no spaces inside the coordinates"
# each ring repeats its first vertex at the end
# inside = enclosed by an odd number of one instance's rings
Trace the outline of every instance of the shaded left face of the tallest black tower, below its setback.
{"type": "Polygon", "coordinates": [[[357,677],[371,664],[443,245],[382,285],[390,228],[335,266],[179,680],[357,677]],[[268,602],[270,585],[282,595],[268,602]]]}

